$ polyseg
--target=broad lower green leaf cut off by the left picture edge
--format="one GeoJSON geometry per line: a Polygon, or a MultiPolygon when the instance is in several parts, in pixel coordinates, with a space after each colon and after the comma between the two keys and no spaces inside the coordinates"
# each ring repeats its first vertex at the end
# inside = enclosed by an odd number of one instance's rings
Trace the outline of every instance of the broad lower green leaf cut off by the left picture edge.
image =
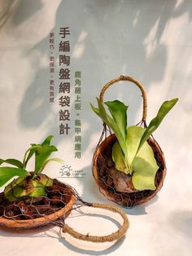
{"type": "Polygon", "coordinates": [[[0,167],[0,187],[15,176],[26,177],[28,171],[15,167],[0,167]]]}

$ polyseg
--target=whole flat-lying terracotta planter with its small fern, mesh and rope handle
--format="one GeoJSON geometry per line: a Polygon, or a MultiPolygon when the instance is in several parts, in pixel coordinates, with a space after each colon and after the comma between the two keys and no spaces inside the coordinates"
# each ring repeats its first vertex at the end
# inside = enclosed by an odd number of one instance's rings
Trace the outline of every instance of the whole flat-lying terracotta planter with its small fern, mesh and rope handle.
{"type": "Polygon", "coordinates": [[[76,239],[84,241],[119,240],[129,228],[129,220],[123,210],[114,205],[85,202],[68,184],[41,174],[49,161],[63,163],[59,158],[49,158],[52,152],[57,151],[55,146],[50,145],[51,139],[50,135],[41,144],[31,144],[24,154],[23,161],[13,158],[0,159],[0,187],[15,176],[19,176],[0,193],[0,227],[26,229],[49,224],[62,227],[63,233],[67,232],[76,239]],[[26,166],[33,155],[35,168],[33,172],[28,172],[26,166]],[[65,223],[65,219],[71,210],[85,205],[116,212],[123,218],[123,224],[120,224],[116,232],[107,236],[89,236],[76,232],[65,223]]]}

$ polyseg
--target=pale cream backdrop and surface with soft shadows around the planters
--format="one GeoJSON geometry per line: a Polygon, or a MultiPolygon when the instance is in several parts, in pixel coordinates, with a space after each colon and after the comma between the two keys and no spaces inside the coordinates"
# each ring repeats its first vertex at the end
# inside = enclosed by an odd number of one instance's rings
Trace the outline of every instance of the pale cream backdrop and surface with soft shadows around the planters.
{"type": "MultiPolygon", "coordinates": [[[[84,179],[59,179],[76,188],[85,201],[107,202],[91,173],[102,123],[90,110],[89,102],[96,103],[101,87],[120,74],[135,77],[145,86],[148,121],[164,100],[178,97],[179,102],[155,132],[168,167],[164,188],[146,205],[125,210],[130,227],[123,240],[94,245],[70,236],[64,240],[59,237],[58,227],[38,232],[0,229],[2,256],[191,255],[191,19],[192,2],[187,0],[12,1],[0,22],[1,158],[21,158],[29,143],[38,143],[52,134],[59,148],[57,156],[73,170],[85,173],[84,179]],[[61,27],[69,27],[71,32],[71,73],[80,70],[82,76],[81,160],[74,158],[73,123],[73,132],[59,135],[58,84],[55,104],[49,103],[49,35],[54,32],[59,40],[61,27]]],[[[55,59],[58,68],[56,51],[55,59]]],[[[74,119],[73,93],[71,99],[74,119]]],[[[130,104],[129,124],[140,120],[142,100],[134,86],[113,86],[106,99],[122,99],[130,104]]],[[[58,177],[59,168],[59,164],[52,163],[46,174],[58,177]]],[[[97,235],[116,230],[116,222],[94,215],[82,217],[77,212],[67,222],[81,232],[97,235]]]]}

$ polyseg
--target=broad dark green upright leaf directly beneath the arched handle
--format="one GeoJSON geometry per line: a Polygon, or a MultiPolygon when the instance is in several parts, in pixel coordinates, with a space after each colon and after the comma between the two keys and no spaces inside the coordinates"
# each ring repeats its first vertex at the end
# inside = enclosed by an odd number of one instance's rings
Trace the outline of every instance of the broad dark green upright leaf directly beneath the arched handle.
{"type": "Polygon", "coordinates": [[[124,136],[124,139],[126,138],[126,129],[127,129],[127,109],[128,106],[124,105],[119,100],[114,101],[107,101],[105,102],[107,105],[111,116],[113,117],[114,121],[116,121],[116,124],[119,126],[119,129],[124,136]]]}

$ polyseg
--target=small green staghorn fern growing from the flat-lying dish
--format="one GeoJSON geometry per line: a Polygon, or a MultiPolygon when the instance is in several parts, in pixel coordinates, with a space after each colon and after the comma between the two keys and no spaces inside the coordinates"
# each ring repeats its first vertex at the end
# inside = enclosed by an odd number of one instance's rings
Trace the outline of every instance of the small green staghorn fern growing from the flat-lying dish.
{"type": "Polygon", "coordinates": [[[24,153],[24,160],[9,158],[6,160],[0,159],[0,165],[9,164],[11,166],[0,167],[0,187],[5,185],[13,177],[14,179],[4,189],[4,196],[8,201],[19,200],[22,196],[45,196],[46,187],[52,186],[53,180],[41,172],[50,161],[63,163],[59,158],[49,158],[52,152],[58,149],[50,145],[52,135],[48,136],[43,143],[32,143],[31,147],[24,153]],[[33,172],[26,170],[26,166],[31,157],[35,156],[35,167],[33,172]],[[14,166],[14,167],[12,167],[14,166]]]}

